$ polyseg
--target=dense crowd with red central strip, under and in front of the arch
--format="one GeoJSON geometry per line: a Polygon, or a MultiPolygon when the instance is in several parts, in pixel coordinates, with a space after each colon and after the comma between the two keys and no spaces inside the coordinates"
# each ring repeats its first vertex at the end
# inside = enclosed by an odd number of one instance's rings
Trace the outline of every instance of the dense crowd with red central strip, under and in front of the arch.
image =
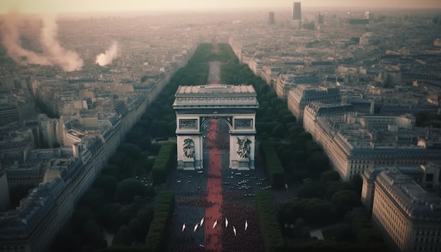
{"type": "Polygon", "coordinates": [[[254,198],[244,197],[244,191],[237,187],[228,189],[243,177],[232,175],[229,169],[230,140],[225,137],[229,136],[229,127],[219,122],[213,120],[205,128],[204,146],[208,151],[204,168],[208,170],[174,171],[173,181],[168,183],[169,189],[175,191],[176,205],[167,251],[263,251],[254,198]],[[227,181],[231,184],[223,185],[227,181]],[[209,211],[210,208],[218,210],[209,211]],[[229,222],[227,227],[225,217],[229,222]],[[201,218],[203,225],[199,225],[201,218]],[[249,225],[246,230],[245,222],[249,225]]]}

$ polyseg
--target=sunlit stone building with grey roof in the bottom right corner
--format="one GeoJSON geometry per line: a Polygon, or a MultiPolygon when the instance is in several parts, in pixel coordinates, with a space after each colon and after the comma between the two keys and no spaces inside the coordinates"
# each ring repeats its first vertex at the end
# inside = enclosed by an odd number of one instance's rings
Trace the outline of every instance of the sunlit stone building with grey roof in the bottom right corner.
{"type": "Polygon", "coordinates": [[[395,251],[441,250],[441,198],[427,184],[439,185],[440,165],[428,166],[364,172],[361,201],[395,251]]]}

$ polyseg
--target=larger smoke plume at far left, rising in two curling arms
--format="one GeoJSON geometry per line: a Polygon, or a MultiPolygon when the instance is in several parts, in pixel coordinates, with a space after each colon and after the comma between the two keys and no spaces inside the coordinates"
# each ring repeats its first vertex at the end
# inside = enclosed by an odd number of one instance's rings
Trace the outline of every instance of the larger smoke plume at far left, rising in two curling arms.
{"type": "Polygon", "coordinates": [[[1,40],[6,47],[8,56],[20,65],[58,65],[65,71],[80,70],[82,59],[74,51],[63,48],[56,39],[57,25],[54,17],[25,16],[20,13],[8,13],[1,20],[1,40]],[[24,49],[20,42],[20,27],[25,22],[42,21],[40,43],[44,53],[35,53],[24,49]]]}

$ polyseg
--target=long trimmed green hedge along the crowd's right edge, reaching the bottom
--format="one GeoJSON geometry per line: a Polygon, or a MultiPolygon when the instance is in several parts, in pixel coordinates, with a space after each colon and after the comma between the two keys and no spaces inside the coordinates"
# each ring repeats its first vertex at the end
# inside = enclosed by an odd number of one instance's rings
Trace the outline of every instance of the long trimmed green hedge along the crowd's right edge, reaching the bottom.
{"type": "Polygon", "coordinates": [[[270,191],[256,193],[256,210],[265,251],[282,251],[284,248],[282,233],[275,220],[273,197],[270,191]]]}

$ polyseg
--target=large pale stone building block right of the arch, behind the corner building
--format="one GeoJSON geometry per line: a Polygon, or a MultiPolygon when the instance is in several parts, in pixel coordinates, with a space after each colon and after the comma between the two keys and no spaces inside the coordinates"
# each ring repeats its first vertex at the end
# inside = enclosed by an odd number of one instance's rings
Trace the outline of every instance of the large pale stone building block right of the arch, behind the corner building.
{"type": "Polygon", "coordinates": [[[344,181],[380,166],[441,161],[440,129],[415,127],[412,115],[359,115],[352,105],[311,103],[304,129],[328,155],[344,181]]]}

